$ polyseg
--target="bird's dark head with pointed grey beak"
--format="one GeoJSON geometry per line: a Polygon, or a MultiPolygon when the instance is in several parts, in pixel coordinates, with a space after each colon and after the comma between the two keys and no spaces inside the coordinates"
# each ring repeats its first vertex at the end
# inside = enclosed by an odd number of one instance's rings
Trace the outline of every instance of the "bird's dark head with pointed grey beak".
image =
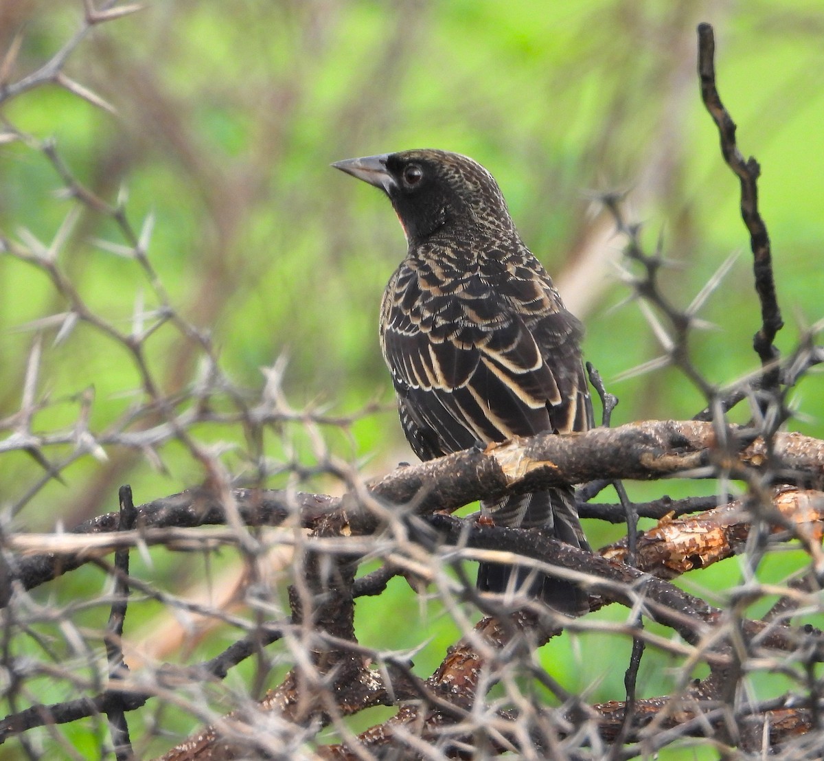
{"type": "Polygon", "coordinates": [[[511,228],[494,177],[469,157],[434,149],[349,158],[333,167],[381,188],[410,243],[438,231],[511,228]]]}

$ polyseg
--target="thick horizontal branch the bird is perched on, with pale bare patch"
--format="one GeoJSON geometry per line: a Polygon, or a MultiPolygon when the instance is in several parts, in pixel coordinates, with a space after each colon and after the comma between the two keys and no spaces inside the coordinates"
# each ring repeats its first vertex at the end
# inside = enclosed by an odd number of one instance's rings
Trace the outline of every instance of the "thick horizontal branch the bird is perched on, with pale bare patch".
{"type": "MultiPolygon", "coordinates": [[[[297,519],[315,528],[321,519],[341,511],[353,534],[372,533],[384,522],[381,505],[404,505],[415,514],[453,511],[480,498],[506,492],[526,493],[547,486],[579,483],[596,478],[651,481],[666,477],[710,477],[715,467],[741,467],[759,472],[767,451],[762,439],[747,428],[730,426],[719,446],[711,423],[695,420],[647,420],[619,428],[597,428],[583,434],[541,434],[513,439],[486,450],[468,449],[428,463],[400,467],[385,477],[350,491],[343,497],[245,490],[233,492],[238,514],[247,525],[277,526],[297,519]]],[[[782,463],[784,481],[817,485],[824,482],[824,442],[796,433],[774,439],[775,457],[782,463]]],[[[190,527],[223,524],[226,511],[208,489],[185,491],[138,508],[138,526],[190,527]]],[[[100,534],[117,530],[117,514],[110,513],[77,526],[72,533],[100,534]]],[[[160,538],[158,537],[158,540],[160,538]]],[[[18,551],[32,552],[24,540],[18,551]],[[26,545],[25,547],[23,545],[26,545]]],[[[120,540],[128,543],[126,538],[120,540]]],[[[138,534],[131,539],[139,541],[138,534]]],[[[115,547],[101,547],[109,552],[115,547]]],[[[32,589],[82,565],[67,540],[66,552],[18,557],[9,569],[12,580],[32,589]]]]}

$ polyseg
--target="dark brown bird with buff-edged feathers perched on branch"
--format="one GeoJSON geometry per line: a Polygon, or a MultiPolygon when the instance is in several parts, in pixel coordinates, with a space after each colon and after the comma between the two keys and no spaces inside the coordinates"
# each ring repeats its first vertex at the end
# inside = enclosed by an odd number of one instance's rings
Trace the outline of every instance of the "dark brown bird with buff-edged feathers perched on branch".
{"type": "MultiPolygon", "coordinates": [[[[425,461],[515,436],[591,428],[583,326],[517,233],[489,171],[436,149],[332,166],[380,188],[405,233],[379,335],[414,453],[425,461]]],[[[572,486],[482,500],[481,518],[542,528],[592,552],[572,486]]],[[[522,591],[562,613],[587,609],[577,585],[526,566],[481,562],[477,587],[522,591]]]]}

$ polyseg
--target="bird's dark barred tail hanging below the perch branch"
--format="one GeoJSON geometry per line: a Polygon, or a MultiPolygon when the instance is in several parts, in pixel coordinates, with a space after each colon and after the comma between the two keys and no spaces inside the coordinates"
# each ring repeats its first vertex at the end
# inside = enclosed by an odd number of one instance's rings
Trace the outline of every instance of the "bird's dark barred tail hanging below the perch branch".
{"type": "MultiPolygon", "coordinates": [[[[512,528],[542,528],[556,539],[592,552],[578,522],[578,510],[571,487],[505,497],[481,505],[482,513],[496,525],[512,528]]],[[[545,575],[527,566],[480,563],[478,589],[482,592],[527,594],[541,599],[561,613],[581,615],[588,610],[588,594],[571,581],[545,575]]]]}

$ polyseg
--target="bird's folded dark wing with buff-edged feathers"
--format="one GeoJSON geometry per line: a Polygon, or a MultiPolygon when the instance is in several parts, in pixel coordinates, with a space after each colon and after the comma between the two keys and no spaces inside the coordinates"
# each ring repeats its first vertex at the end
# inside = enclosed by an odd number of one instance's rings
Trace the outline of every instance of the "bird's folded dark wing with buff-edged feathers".
{"type": "Polygon", "coordinates": [[[559,430],[553,418],[569,417],[567,394],[575,397],[583,372],[577,341],[567,350],[559,334],[551,347],[559,356],[545,356],[523,317],[480,280],[444,293],[415,279],[398,270],[382,307],[382,348],[415,453],[429,459],[559,430]],[[578,368],[559,373],[558,363],[568,362],[578,368]]]}

